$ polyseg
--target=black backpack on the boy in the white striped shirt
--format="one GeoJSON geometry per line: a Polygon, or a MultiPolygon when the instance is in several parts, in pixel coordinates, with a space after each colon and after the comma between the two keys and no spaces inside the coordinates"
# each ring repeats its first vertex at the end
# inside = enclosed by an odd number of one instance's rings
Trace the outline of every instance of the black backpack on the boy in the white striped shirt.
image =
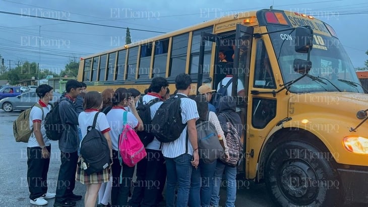
{"type": "Polygon", "coordinates": [[[181,122],[180,98],[183,97],[188,98],[185,95],[176,94],[165,100],[153,117],[152,133],[160,142],[175,141],[187,126],[187,123],[181,122]]]}

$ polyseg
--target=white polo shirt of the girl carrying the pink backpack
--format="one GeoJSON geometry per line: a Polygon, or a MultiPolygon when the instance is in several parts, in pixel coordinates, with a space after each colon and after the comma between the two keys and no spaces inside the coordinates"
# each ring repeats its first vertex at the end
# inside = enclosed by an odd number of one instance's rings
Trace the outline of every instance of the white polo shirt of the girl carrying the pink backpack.
{"type": "MultiPolygon", "coordinates": [[[[122,132],[122,114],[125,112],[124,107],[112,107],[112,109],[107,113],[106,118],[109,123],[111,130],[109,131],[111,142],[112,142],[112,149],[117,151],[118,150],[118,140],[119,136],[122,132]]],[[[139,122],[138,119],[132,114],[128,112],[128,122],[130,127],[133,129],[137,129],[139,122]]]]}

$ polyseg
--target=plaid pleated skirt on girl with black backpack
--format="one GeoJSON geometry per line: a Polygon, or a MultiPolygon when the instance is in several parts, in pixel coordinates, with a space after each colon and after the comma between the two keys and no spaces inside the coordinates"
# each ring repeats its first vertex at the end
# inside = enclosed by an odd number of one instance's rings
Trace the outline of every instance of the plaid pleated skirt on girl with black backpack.
{"type": "Polygon", "coordinates": [[[110,170],[106,168],[100,172],[93,173],[91,175],[87,175],[84,173],[84,170],[77,167],[76,173],[76,181],[82,184],[97,184],[97,183],[107,183],[110,179],[110,170]]]}

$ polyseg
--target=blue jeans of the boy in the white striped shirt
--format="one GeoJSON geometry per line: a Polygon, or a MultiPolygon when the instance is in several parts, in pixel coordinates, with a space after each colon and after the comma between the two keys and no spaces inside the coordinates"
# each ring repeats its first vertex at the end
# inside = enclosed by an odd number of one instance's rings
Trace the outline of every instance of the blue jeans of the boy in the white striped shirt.
{"type": "Polygon", "coordinates": [[[167,169],[166,207],[187,207],[191,187],[192,156],[188,153],[176,158],[165,158],[167,169]],[[175,205],[175,189],[177,197],[175,205]]]}

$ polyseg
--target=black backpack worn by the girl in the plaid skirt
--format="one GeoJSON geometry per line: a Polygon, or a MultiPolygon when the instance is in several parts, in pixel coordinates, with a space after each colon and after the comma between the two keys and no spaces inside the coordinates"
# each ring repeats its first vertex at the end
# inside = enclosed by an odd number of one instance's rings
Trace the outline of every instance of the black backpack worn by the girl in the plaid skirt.
{"type": "Polygon", "coordinates": [[[92,126],[87,127],[87,134],[81,142],[81,160],[86,164],[83,165],[82,163],[82,166],[87,175],[100,172],[111,164],[110,149],[108,148],[107,140],[95,128],[99,113],[96,113],[92,126]]]}

